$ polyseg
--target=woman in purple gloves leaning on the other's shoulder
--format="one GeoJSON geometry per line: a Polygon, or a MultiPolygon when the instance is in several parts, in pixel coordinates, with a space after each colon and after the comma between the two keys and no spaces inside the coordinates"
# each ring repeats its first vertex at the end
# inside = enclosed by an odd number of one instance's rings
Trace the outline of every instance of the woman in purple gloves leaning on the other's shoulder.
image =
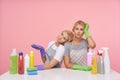
{"type": "Polygon", "coordinates": [[[43,63],[36,65],[35,67],[38,70],[50,69],[53,67],[61,67],[61,62],[63,60],[64,55],[64,44],[66,42],[71,42],[73,40],[73,33],[69,30],[62,31],[58,36],[56,41],[50,41],[48,44],[48,48],[45,49],[41,45],[32,44],[32,48],[40,50],[40,55],[43,63]]]}

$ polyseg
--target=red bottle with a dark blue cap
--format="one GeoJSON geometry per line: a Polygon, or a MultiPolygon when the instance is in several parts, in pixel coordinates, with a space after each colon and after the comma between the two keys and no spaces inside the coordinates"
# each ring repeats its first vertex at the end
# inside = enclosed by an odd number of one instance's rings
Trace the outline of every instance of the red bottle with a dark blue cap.
{"type": "Polygon", "coordinates": [[[23,52],[19,52],[19,58],[18,58],[18,74],[24,74],[24,58],[23,58],[23,52]]]}

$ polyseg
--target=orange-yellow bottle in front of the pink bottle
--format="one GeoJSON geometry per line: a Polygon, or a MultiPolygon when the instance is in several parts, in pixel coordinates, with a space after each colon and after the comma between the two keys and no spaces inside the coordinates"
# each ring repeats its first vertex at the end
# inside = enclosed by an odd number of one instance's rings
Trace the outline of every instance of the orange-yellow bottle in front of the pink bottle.
{"type": "Polygon", "coordinates": [[[92,74],[97,74],[97,56],[95,52],[92,55],[92,74]]]}

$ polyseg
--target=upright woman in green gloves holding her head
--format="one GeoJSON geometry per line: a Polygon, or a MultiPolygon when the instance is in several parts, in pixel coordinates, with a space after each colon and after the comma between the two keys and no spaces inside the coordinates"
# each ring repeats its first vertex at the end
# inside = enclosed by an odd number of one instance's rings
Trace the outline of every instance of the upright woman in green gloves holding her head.
{"type": "Polygon", "coordinates": [[[65,43],[64,64],[66,68],[91,70],[91,67],[87,66],[87,52],[89,48],[95,48],[96,44],[88,29],[87,23],[81,20],[75,22],[72,29],[75,37],[72,42],[65,43]]]}

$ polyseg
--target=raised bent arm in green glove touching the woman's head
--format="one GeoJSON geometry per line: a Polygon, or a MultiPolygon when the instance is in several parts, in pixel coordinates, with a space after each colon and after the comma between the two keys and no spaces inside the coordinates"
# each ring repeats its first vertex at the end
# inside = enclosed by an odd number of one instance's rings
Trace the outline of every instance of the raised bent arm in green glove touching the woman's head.
{"type": "Polygon", "coordinates": [[[92,36],[90,36],[88,29],[89,29],[89,24],[86,23],[84,28],[84,34],[88,42],[88,47],[93,49],[96,47],[96,44],[95,41],[92,39],[92,36]]]}

